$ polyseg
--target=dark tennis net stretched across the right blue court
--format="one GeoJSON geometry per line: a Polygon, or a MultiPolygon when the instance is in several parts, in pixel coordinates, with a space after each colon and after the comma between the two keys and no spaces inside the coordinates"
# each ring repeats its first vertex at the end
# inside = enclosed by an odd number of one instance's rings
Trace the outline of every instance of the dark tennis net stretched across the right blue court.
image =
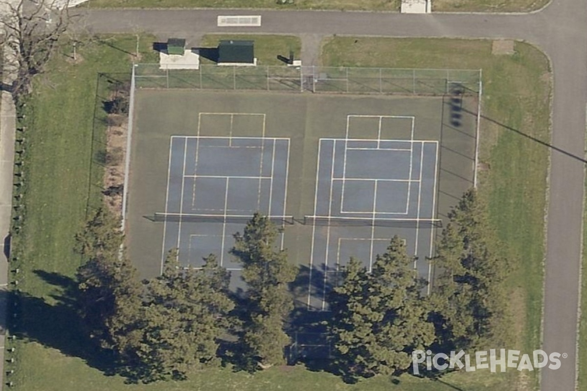
{"type": "Polygon", "coordinates": [[[340,227],[393,227],[393,228],[431,228],[442,227],[440,219],[371,219],[369,217],[304,216],[305,225],[340,227]]]}

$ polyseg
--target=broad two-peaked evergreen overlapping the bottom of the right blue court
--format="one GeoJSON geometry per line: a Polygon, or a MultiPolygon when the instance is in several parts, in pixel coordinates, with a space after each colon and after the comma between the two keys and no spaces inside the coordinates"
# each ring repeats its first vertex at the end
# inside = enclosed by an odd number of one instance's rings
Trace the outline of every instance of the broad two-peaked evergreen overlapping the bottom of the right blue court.
{"type": "Polygon", "coordinates": [[[399,237],[377,256],[371,273],[351,259],[344,280],[330,296],[331,333],[339,364],[351,376],[392,374],[408,369],[411,352],[434,341],[424,284],[399,237]]]}

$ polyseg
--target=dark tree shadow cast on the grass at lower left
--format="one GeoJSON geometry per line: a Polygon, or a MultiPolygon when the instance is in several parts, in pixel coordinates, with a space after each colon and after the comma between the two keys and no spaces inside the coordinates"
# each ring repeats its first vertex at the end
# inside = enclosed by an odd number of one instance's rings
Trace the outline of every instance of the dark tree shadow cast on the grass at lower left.
{"type": "Polygon", "coordinates": [[[11,334],[58,349],[66,356],[79,357],[105,375],[120,373],[113,353],[100,348],[83,329],[76,307],[76,281],[54,272],[34,273],[53,285],[53,293],[42,298],[20,290],[10,291],[6,303],[11,334]]]}

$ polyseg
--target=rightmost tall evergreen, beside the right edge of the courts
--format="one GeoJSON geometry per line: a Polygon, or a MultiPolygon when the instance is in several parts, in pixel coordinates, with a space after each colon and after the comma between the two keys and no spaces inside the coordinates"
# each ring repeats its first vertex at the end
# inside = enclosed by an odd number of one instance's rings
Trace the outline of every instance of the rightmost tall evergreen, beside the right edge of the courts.
{"type": "Polygon", "coordinates": [[[437,245],[438,277],[432,298],[439,342],[449,349],[502,342],[507,307],[503,283],[509,265],[497,253],[487,208],[471,189],[448,218],[437,245]]]}

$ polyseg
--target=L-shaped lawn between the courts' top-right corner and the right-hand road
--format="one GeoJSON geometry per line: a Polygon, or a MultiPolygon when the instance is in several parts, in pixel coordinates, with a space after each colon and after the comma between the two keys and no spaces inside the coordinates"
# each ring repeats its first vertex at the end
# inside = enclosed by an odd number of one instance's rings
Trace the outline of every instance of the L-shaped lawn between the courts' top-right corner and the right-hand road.
{"type": "MultiPolygon", "coordinates": [[[[480,161],[481,193],[491,223],[513,263],[509,278],[514,318],[512,346],[540,346],[544,208],[549,151],[549,63],[531,45],[515,43],[514,55],[492,55],[490,40],[333,38],[322,63],[374,67],[483,69],[480,161]],[[526,137],[528,136],[528,137],[526,137]]],[[[512,347],[510,347],[512,348],[512,347]]],[[[534,375],[532,375],[534,376],[534,375]]],[[[537,379],[523,380],[537,385],[537,379]]]]}

